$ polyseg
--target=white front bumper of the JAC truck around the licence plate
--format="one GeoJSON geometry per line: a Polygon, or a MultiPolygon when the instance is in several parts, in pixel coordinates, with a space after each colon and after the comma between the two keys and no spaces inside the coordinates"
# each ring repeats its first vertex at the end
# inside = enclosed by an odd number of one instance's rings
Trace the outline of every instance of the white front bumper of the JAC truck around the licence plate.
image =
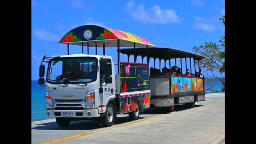
{"type": "Polygon", "coordinates": [[[94,118],[100,117],[99,109],[88,109],[88,110],[45,110],[47,117],[63,117],[62,112],[74,112],[72,118],[94,118]]]}

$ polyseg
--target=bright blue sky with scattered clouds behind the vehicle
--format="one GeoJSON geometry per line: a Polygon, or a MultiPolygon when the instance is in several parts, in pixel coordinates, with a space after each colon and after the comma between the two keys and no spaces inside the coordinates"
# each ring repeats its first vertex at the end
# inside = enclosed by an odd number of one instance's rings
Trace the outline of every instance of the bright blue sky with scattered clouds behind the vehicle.
{"type": "MultiPolygon", "coordinates": [[[[225,35],[225,27],[219,20],[225,12],[224,3],[224,0],[32,0],[31,78],[38,80],[44,54],[67,54],[67,46],[58,42],[68,31],[82,25],[130,32],[156,46],[192,53],[194,46],[199,47],[204,42],[220,44],[221,36],[225,35]]],[[[71,45],[70,54],[76,53],[82,53],[81,46],[71,45]]],[[[86,48],[84,53],[87,53],[86,48]]],[[[95,48],[90,47],[89,53],[95,54],[95,48]]],[[[97,54],[103,55],[102,48],[98,48],[97,54]]],[[[116,64],[116,48],[106,48],[106,55],[112,56],[116,64]]],[[[138,56],[137,62],[141,61],[138,56]]],[[[120,62],[127,62],[127,56],[120,54],[120,62]]],[[[133,62],[133,56],[130,56],[130,62],[133,62]]],[[[173,66],[174,60],[171,62],[173,66]]],[[[150,67],[153,66],[154,61],[150,59],[150,67]]],[[[162,67],[164,61],[161,61],[162,67]]],[[[182,67],[185,67],[184,63],[182,67]]],[[[156,68],[159,68],[158,59],[156,68]]]]}

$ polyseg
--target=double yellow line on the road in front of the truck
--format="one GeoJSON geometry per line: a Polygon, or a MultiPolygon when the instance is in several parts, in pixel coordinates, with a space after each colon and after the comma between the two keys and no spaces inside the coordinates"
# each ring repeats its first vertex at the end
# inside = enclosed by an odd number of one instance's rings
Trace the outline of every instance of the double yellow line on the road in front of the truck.
{"type": "Polygon", "coordinates": [[[110,127],[110,128],[105,128],[105,129],[104,128],[98,128],[98,129],[95,129],[95,130],[88,130],[88,131],[78,132],[78,133],[75,133],[75,134],[71,134],[71,135],[68,135],[68,136],[62,136],[62,137],[59,137],[59,138],[54,138],[54,139],[47,140],[47,141],[44,141],[44,142],[39,142],[39,143],[36,143],[36,144],[45,144],[45,143],[48,143],[48,142],[52,142],[50,144],[57,144],[57,143],[60,143],[60,142],[66,141],[66,140],[72,140],[72,139],[75,139],[75,138],[79,138],[79,137],[82,137],[82,136],[88,136],[90,134],[94,134],[94,133],[98,133],[98,132],[103,132],[103,131],[110,130],[110,129],[113,129],[113,128],[118,128],[118,127],[121,127],[121,126],[126,126],[126,125],[130,125],[130,124],[134,124],[134,123],[137,123],[137,122],[142,122],[142,121],[150,119],[150,117],[153,117],[153,116],[158,117],[158,115],[160,115],[160,114],[154,114],[152,116],[145,117],[146,119],[125,123],[125,124],[121,124],[121,125],[110,127]],[[86,134],[83,134],[83,133],[86,133],[86,134]],[[77,136],[77,135],[79,135],[79,136],[77,136]],[[72,136],[74,136],[74,137],[72,137],[72,136]],[[69,138],[69,137],[72,137],[72,138],[69,138]],[[61,140],[61,139],[64,139],[64,140],[61,140]],[[56,141],[56,140],[59,140],[59,141],[56,141]],[[53,141],[56,141],[56,142],[53,142],[53,141]]]}

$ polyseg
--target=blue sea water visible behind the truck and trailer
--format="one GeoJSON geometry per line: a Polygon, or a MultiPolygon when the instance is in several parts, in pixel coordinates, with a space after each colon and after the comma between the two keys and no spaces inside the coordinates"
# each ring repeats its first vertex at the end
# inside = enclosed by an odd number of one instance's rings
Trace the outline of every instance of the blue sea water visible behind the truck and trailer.
{"type": "MultiPolygon", "coordinates": [[[[220,90],[220,87],[221,87],[220,81],[214,81],[212,84],[214,89],[220,90]]],[[[44,92],[45,92],[45,87],[40,86],[37,80],[32,80],[31,82],[32,121],[50,119],[50,118],[47,118],[44,114],[44,111],[45,111],[44,92]]],[[[211,93],[211,92],[206,92],[206,93],[211,93]]]]}

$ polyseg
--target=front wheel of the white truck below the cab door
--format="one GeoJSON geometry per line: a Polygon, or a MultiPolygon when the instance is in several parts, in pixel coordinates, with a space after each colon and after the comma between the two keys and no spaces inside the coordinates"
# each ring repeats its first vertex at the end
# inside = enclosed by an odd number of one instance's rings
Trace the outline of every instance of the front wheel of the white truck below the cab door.
{"type": "Polygon", "coordinates": [[[106,127],[112,126],[112,124],[114,123],[114,116],[114,106],[112,103],[109,103],[106,109],[105,116],[100,117],[102,125],[106,127]]]}

